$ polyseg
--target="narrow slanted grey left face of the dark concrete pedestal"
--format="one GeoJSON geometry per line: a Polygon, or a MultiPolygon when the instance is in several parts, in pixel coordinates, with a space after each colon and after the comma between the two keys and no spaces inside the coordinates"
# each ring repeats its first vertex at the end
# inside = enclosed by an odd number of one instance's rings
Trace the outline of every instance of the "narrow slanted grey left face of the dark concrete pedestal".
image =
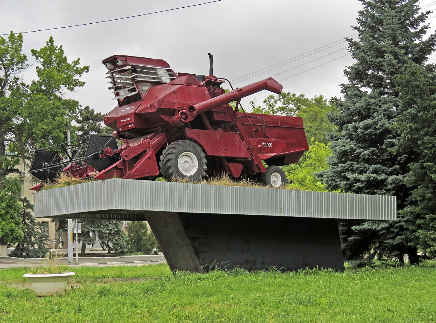
{"type": "Polygon", "coordinates": [[[147,212],[146,218],[171,271],[203,272],[176,212],[147,212]]]}

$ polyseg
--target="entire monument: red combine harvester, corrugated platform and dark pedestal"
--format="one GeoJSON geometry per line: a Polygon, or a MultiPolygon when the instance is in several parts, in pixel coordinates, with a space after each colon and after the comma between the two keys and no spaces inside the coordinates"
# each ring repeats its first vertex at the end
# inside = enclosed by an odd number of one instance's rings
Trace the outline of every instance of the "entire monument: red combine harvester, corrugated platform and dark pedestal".
{"type": "Polygon", "coordinates": [[[35,216],[146,220],[172,270],[343,270],[337,219],[395,219],[395,197],[274,189],[286,183],[279,166],[308,150],[303,122],[246,113],[239,100],[282,86],[267,78],[225,93],[209,58],[207,76],[151,58],[103,60],[118,101],[104,118],[113,136],[38,150],[30,169],[45,183],[62,172],[103,181],[35,193],[35,216]],[[152,181],[222,172],[272,188],[152,181]]]}

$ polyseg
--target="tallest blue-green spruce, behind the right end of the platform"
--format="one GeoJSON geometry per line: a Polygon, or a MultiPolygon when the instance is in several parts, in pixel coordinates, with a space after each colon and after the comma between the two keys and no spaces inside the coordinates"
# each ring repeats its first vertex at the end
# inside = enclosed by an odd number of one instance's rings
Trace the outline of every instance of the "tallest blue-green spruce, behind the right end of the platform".
{"type": "MultiPolygon", "coordinates": [[[[413,156],[390,150],[397,141],[390,126],[403,113],[395,77],[408,63],[426,66],[436,36],[425,37],[430,12],[420,12],[416,0],[360,1],[363,9],[354,27],[358,36],[347,38],[356,62],[344,71],[348,79],[341,84],[344,99],[337,101],[338,111],[330,115],[338,132],[330,135],[333,155],[320,176],[331,190],[396,195],[398,209],[403,209],[409,195],[407,165],[413,156]]],[[[387,256],[402,263],[408,254],[411,263],[419,261],[402,215],[398,221],[347,223],[341,234],[346,259],[363,264],[387,256]]]]}

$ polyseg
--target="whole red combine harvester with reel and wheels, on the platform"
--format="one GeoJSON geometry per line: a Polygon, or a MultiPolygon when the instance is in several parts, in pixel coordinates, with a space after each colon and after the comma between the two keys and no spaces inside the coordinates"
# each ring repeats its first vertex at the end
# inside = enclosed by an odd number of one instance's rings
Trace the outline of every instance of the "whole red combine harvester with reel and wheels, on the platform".
{"type": "Polygon", "coordinates": [[[204,76],[176,74],[164,60],[106,58],[109,89],[118,101],[104,118],[113,136],[90,135],[38,150],[31,174],[43,182],[61,172],[78,178],[161,175],[198,181],[225,172],[283,185],[286,176],[278,166],[298,162],[309,149],[302,119],[245,113],[241,98],[262,90],[280,94],[283,87],[267,78],[225,93],[221,84],[227,80],[213,76],[211,54],[209,59],[204,76]],[[229,105],[232,101],[236,108],[229,105]]]}

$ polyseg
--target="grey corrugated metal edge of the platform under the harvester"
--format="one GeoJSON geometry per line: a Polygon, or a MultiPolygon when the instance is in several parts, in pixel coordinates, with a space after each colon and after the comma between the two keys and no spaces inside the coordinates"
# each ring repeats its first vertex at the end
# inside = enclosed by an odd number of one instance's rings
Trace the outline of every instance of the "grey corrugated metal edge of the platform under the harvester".
{"type": "Polygon", "coordinates": [[[127,220],[147,211],[395,220],[396,197],[121,178],[35,192],[37,218],[127,220]]]}

